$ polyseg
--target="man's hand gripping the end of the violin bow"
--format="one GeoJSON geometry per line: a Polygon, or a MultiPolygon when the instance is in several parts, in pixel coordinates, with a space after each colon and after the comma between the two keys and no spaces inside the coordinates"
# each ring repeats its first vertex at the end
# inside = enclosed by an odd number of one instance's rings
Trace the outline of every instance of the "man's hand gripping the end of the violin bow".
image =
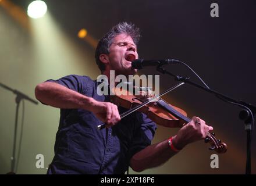
{"type": "Polygon", "coordinates": [[[108,128],[114,126],[121,120],[118,106],[110,102],[99,102],[94,99],[90,111],[93,112],[99,120],[104,122],[108,128]]]}

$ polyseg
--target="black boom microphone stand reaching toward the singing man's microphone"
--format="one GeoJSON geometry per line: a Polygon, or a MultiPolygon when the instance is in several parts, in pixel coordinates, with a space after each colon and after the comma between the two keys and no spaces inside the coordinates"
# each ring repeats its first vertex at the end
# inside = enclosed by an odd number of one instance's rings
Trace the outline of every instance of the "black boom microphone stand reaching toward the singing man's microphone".
{"type": "Polygon", "coordinates": [[[236,99],[230,98],[229,96],[221,94],[215,90],[203,87],[197,83],[190,81],[189,78],[172,74],[166,69],[163,69],[161,65],[157,66],[157,70],[162,74],[168,74],[169,76],[175,77],[176,81],[182,81],[183,83],[193,85],[194,87],[200,88],[204,91],[214,94],[217,98],[222,99],[222,101],[226,101],[243,108],[243,110],[241,110],[241,112],[239,113],[239,118],[244,121],[245,130],[247,134],[246,174],[251,174],[251,133],[253,130],[253,118],[256,113],[256,106],[251,105],[251,103],[246,103],[244,101],[237,101],[236,99]]]}

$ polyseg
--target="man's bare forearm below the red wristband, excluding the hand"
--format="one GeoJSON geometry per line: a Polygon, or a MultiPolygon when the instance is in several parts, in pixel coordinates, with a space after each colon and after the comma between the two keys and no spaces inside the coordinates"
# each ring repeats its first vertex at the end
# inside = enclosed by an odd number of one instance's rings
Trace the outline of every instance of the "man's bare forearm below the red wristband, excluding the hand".
{"type": "Polygon", "coordinates": [[[130,160],[130,166],[134,171],[143,171],[165,163],[175,154],[176,152],[170,148],[168,140],[165,140],[147,146],[147,148],[136,153],[130,160]]]}

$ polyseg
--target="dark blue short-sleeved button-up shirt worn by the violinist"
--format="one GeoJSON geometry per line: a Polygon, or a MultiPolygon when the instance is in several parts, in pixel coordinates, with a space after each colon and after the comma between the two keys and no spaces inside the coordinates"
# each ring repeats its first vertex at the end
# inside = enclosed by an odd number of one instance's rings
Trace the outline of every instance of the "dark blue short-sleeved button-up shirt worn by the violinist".
{"type": "MultiPolygon", "coordinates": [[[[54,81],[97,101],[109,96],[97,94],[97,81],[70,75],[54,81]]],[[[126,109],[119,108],[119,113],[126,109]]],[[[55,156],[48,174],[124,174],[131,157],[151,144],[156,124],[143,113],[124,117],[112,128],[98,130],[102,124],[92,112],[61,109],[54,146],[55,156]]]]}

